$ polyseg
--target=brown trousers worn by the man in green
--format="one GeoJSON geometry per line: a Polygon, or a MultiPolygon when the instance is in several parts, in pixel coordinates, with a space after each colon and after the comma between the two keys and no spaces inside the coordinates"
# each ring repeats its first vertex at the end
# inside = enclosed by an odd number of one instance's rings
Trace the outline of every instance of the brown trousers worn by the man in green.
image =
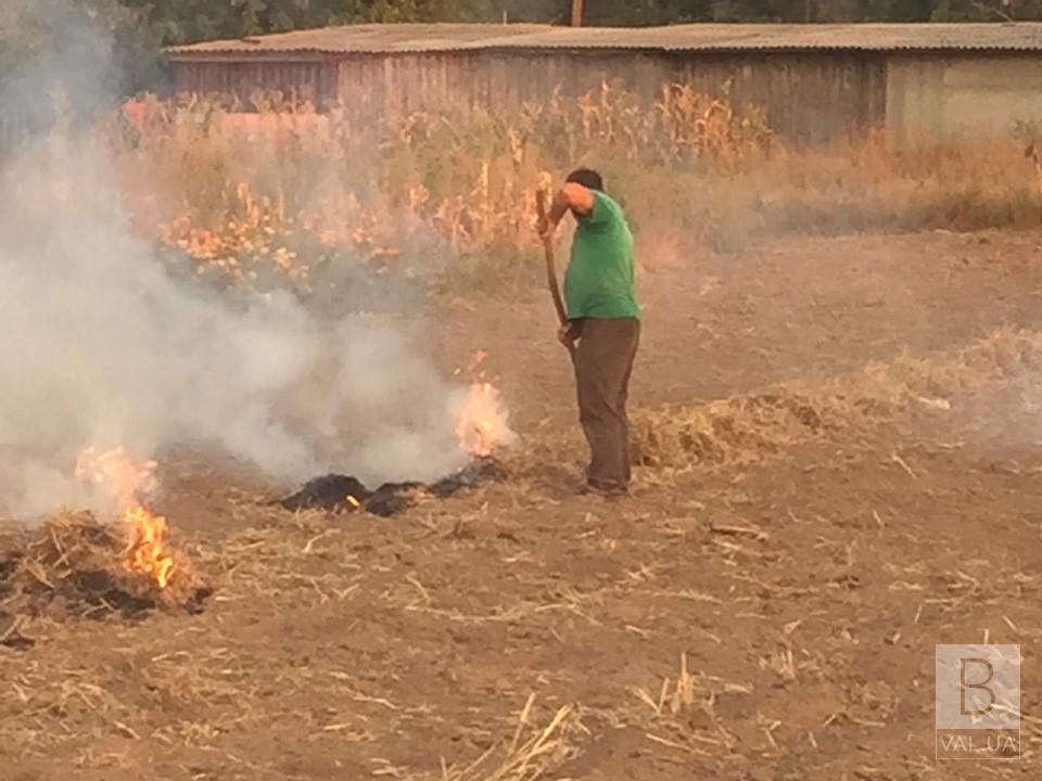
{"type": "Polygon", "coordinates": [[[575,347],[579,420],[589,443],[586,481],[593,488],[630,485],[630,422],[626,398],[640,342],[636,318],[586,318],[575,347]]]}

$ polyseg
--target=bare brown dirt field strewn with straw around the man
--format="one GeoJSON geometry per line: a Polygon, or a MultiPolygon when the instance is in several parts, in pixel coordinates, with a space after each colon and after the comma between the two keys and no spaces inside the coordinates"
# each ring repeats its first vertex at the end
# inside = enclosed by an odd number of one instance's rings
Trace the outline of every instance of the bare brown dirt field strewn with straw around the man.
{"type": "Polygon", "coordinates": [[[1038,778],[1040,251],[800,240],[647,273],[648,465],[617,502],[573,492],[545,292],[448,302],[432,347],[487,350],[510,478],[334,518],[166,463],[214,597],[24,620],[0,778],[1038,778]],[[986,641],[1022,646],[1025,756],[936,764],[933,646],[986,641]]]}

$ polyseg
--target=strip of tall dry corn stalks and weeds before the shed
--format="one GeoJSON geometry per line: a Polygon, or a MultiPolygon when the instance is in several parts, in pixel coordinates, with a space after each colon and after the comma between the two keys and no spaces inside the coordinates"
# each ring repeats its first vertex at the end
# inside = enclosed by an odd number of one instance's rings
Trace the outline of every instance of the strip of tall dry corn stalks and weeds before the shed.
{"type": "Polygon", "coordinates": [[[153,100],[113,133],[139,227],[250,287],[289,281],[315,295],[360,272],[432,278],[449,263],[454,279],[517,279],[535,246],[535,189],[581,163],[605,171],[652,264],[775,234],[1016,227],[1042,212],[1012,138],[898,152],[869,135],[798,150],[759,112],[682,85],[653,102],[605,85],[507,118],[253,102],[260,111],[153,100]]]}

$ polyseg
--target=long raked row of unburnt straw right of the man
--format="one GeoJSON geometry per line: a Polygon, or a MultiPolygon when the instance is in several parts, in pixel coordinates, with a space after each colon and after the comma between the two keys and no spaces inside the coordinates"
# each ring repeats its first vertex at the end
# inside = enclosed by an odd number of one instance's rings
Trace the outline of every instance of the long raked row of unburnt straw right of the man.
{"type": "MultiPolygon", "coordinates": [[[[786,383],[691,407],[637,409],[633,461],[664,470],[750,464],[831,433],[850,438],[871,432],[908,410],[949,411],[956,397],[987,396],[989,384],[1040,369],[1042,333],[1002,328],[956,350],[903,354],[824,382],[786,383]]],[[[549,449],[571,453],[575,444],[549,449]]]]}

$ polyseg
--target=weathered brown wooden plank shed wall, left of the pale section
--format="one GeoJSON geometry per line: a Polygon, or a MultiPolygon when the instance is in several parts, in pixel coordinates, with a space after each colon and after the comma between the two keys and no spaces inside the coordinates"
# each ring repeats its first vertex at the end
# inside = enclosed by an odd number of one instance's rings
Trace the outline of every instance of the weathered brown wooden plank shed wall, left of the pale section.
{"type": "Polygon", "coordinates": [[[359,115],[398,114],[446,105],[517,111],[525,101],[566,97],[618,79],[649,99],[669,81],[753,104],[771,126],[816,143],[881,126],[886,119],[885,55],[822,52],[740,54],[481,51],[347,54],[313,62],[220,60],[175,63],[178,89],[237,92],[307,90],[319,101],[339,95],[359,115]]]}

